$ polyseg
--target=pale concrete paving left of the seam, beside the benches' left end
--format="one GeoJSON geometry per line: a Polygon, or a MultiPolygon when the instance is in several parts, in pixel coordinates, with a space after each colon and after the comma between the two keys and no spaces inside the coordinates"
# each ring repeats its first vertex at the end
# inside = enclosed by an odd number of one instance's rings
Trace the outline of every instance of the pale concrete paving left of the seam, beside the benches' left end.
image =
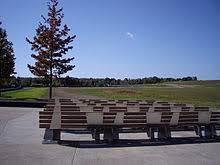
{"type": "Polygon", "coordinates": [[[72,164],[74,148],[42,145],[44,130],[38,128],[38,111],[0,107],[0,165],[72,164]]]}

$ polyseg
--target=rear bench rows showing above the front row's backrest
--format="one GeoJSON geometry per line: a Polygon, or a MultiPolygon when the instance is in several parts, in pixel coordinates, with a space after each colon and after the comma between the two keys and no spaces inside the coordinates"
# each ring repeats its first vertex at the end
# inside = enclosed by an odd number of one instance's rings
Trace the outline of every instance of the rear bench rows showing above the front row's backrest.
{"type": "MultiPolygon", "coordinates": [[[[58,100],[59,105],[61,106],[61,109],[65,111],[81,111],[81,112],[181,112],[181,111],[215,111],[216,109],[210,108],[210,107],[194,107],[192,105],[188,104],[175,104],[175,103],[168,103],[164,104],[164,102],[154,102],[153,104],[126,104],[126,103],[100,103],[104,102],[101,101],[95,101],[93,100],[86,100],[86,102],[82,101],[72,101],[72,100],[58,100]]],[[[107,102],[107,101],[105,101],[107,102]]],[[[118,101],[114,101],[118,102],[118,101]]],[[[135,102],[135,101],[132,101],[135,102]]],[[[55,100],[50,101],[47,106],[46,110],[53,110],[55,106],[55,100]]]]}

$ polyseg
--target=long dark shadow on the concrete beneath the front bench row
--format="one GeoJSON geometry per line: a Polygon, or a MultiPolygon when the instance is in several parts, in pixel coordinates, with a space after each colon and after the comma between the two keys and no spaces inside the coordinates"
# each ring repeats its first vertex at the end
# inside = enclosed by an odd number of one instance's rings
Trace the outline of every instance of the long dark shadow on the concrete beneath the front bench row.
{"type": "Polygon", "coordinates": [[[150,140],[150,139],[120,139],[116,142],[106,143],[100,140],[98,143],[93,140],[60,140],[59,145],[77,148],[114,148],[114,147],[143,147],[143,146],[169,146],[184,144],[219,143],[220,137],[207,139],[200,137],[175,137],[169,140],[150,140]]]}

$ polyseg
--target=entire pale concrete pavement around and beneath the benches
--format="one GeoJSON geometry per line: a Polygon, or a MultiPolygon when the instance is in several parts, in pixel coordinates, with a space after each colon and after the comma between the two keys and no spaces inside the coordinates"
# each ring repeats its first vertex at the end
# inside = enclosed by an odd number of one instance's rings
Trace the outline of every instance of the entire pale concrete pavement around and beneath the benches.
{"type": "MultiPolygon", "coordinates": [[[[88,142],[91,137],[87,134],[62,133],[62,140],[66,140],[62,145],[43,145],[44,129],[38,128],[40,110],[0,108],[0,165],[220,164],[220,143],[105,147],[88,142]]],[[[189,135],[193,133],[176,133],[176,136],[189,135]]],[[[144,133],[120,137],[146,139],[144,133]]]]}

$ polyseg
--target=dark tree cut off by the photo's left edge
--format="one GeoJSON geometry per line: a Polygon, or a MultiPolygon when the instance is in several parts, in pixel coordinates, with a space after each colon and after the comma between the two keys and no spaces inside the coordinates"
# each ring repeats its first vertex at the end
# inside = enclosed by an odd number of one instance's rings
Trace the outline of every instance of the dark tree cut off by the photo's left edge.
{"type": "Polygon", "coordinates": [[[9,82],[15,74],[15,56],[12,42],[7,39],[7,32],[1,27],[0,22],[0,96],[2,85],[9,82]]]}

